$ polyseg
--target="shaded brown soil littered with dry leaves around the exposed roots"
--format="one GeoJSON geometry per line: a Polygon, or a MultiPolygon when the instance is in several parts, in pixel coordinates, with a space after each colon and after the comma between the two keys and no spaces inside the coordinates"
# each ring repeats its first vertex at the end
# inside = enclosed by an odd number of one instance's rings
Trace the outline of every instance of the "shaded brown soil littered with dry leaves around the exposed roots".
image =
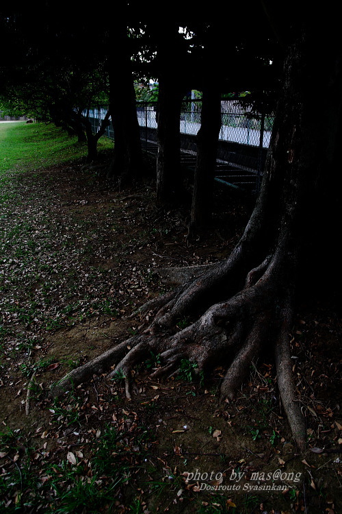
{"type": "MultiPolygon", "coordinates": [[[[62,398],[60,417],[47,398],[51,384],[71,367],[140,330],[141,321],[129,316],[166,290],[158,267],[227,256],[248,220],[252,197],[216,186],[213,224],[189,244],[188,206],[157,210],[152,178],[121,191],[79,162],[14,175],[12,193],[13,208],[1,218],[6,237],[31,225],[20,241],[11,235],[3,262],[0,421],[3,430],[18,430],[25,448],[34,448],[37,476],[39,463],[41,469],[47,462],[72,466],[70,454],[86,469],[96,439],[111,426],[118,433],[112,450],[130,469],[114,511],[341,512],[341,325],[331,299],[302,304],[289,334],[307,425],[302,454],[291,439],[267,353],[231,403],[220,403],[218,395],[226,363],[204,380],[185,366],[182,376],[161,382],[150,380],[151,363],[142,363],[131,402],[120,381],[107,384],[94,376],[62,398]],[[27,400],[31,380],[38,387],[27,400]]],[[[3,451],[3,476],[21,465],[24,453],[21,448],[14,458],[3,451]]],[[[108,485],[102,476],[99,490],[108,485]]],[[[8,506],[16,497],[7,498],[8,506]]],[[[58,501],[47,500],[49,509],[58,501]]],[[[105,503],[101,511],[108,511],[105,503]]]]}

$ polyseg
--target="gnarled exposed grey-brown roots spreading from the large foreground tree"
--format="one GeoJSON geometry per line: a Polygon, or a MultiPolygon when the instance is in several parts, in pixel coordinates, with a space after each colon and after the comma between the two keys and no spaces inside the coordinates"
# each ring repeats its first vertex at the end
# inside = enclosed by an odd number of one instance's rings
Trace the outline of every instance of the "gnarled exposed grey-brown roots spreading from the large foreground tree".
{"type": "MultiPolygon", "coordinates": [[[[135,365],[150,356],[159,355],[161,366],[153,370],[154,378],[172,376],[181,360],[187,358],[197,363],[197,370],[205,371],[220,362],[228,371],[222,381],[223,399],[233,400],[248,373],[250,363],[263,349],[265,343],[276,341],[274,346],[278,387],[287,413],[293,437],[300,449],[305,445],[305,424],[291,380],[289,332],[291,330],[291,302],[289,289],[279,284],[281,256],[276,252],[261,265],[245,275],[245,286],[229,299],[211,305],[192,324],[178,330],[179,315],[191,313],[189,306],[196,304],[205,291],[213,292],[227,265],[218,265],[196,278],[191,284],[159,297],[148,309],[159,308],[153,323],[139,336],[134,336],[98,356],[90,363],[70,372],[51,391],[58,395],[70,386],[92,378],[93,374],[109,371],[107,380],[120,372],[124,378],[126,395],[131,398],[131,377],[135,365]],[[210,276],[213,273],[213,276],[210,276]],[[114,367],[114,364],[116,366],[114,367]]],[[[228,267],[229,269],[229,267],[228,267]]]]}

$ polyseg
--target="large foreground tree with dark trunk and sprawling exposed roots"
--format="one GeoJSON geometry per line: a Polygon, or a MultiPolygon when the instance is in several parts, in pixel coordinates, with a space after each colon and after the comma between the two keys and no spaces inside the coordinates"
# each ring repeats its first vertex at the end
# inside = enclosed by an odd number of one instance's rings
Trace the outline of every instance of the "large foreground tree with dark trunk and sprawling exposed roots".
{"type": "Polygon", "coordinates": [[[155,310],[155,317],[142,334],[73,370],[53,393],[116,364],[107,378],[121,371],[129,396],[133,366],[153,351],[162,363],[155,376],[172,374],[182,358],[196,361],[199,370],[226,361],[221,392],[232,399],[252,359],[267,345],[274,351],[293,437],[304,448],[289,332],[295,299],[310,282],[317,289],[327,262],[337,271],[332,266],[336,234],[328,228],[338,212],[337,188],[331,184],[340,167],[342,53],[333,31],[317,40],[311,21],[285,28],[283,88],[261,193],[239,243],[226,260],[205,271],[189,270],[193,278],[146,304],[141,315],[155,310]],[[317,246],[324,250],[319,255],[317,246]],[[185,315],[192,323],[179,330],[176,322],[185,315]]]}

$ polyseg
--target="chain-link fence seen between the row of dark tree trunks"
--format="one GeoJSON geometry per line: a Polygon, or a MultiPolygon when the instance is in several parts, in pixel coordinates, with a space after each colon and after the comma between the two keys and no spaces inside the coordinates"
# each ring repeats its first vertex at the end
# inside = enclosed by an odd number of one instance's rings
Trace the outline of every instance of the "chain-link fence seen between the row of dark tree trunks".
{"type": "MultiPolygon", "coordinates": [[[[222,125],[218,138],[216,180],[228,184],[240,184],[257,191],[267,148],[271,138],[274,113],[267,109],[253,108],[244,99],[222,99],[222,125]]],[[[196,135],[200,130],[202,101],[184,100],[181,106],[181,161],[194,167],[196,162],[196,135]]],[[[107,108],[93,108],[88,116],[94,133],[98,132],[107,108]]],[[[83,114],[86,114],[83,113],[83,114]]],[[[140,125],[142,148],[157,154],[157,102],[137,102],[137,121],[140,125]]],[[[105,135],[114,139],[113,127],[106,128],[105,135]]]]}

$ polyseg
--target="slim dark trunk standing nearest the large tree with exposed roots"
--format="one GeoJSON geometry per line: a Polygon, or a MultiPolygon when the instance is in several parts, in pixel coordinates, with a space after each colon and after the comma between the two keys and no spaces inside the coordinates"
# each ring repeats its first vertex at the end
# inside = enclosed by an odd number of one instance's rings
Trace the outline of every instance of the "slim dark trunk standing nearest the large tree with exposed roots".
{"type": "Polygon", "coordinates": [[[220,90],[206,87],[203,89],[201,124],[197,134],[197,160],[189,234],[192,234],[196,228],[205,225],[211,219],[213,181],[220,128],[220,90]]]}

